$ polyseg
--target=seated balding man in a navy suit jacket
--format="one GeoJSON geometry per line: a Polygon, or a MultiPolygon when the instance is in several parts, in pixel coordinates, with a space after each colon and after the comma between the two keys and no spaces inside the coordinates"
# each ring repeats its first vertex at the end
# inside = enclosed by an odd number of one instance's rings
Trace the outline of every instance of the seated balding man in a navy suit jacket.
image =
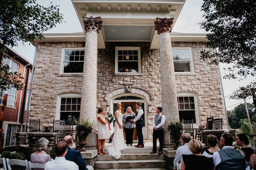
{"type": "Polygon", "coordinates": [[[65,159],[76,163],[79,167],[79,170],[93,170],[92,166],[86,166],[86,163],[82,158],[81,152],[72,149],[73,137],[70,135],[65,136],[64,141],[67,142],[67,154],[65,155],[65,159]]]}

